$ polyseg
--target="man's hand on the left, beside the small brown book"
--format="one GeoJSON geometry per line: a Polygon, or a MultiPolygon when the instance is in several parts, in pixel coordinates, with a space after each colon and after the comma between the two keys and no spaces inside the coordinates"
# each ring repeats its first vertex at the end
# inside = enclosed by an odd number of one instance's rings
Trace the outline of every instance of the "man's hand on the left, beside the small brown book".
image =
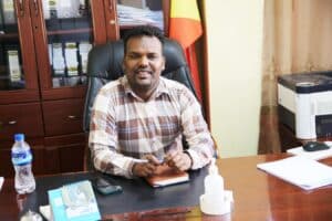
{"type": "Polygon", "coordinates": [[[146,155],[147,162],[135,162],[132,169],[134,176],[149,177],[155,173],[159,160],[153,155],[146,155]]]}

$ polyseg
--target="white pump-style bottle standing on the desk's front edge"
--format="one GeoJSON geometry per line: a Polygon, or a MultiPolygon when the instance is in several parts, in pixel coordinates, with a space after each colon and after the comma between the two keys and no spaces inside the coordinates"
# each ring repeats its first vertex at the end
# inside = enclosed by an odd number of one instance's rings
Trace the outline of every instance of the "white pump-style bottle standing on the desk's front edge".
{"type": "Polygon", "coordinates": [[[200,210],[206,214],[226,214],[230,212],[230,201],[224,190],[224,179],[218,172],[215,158],[209,166],[209,173],[204,180],[205,193],[200,196],[200,210]]]}

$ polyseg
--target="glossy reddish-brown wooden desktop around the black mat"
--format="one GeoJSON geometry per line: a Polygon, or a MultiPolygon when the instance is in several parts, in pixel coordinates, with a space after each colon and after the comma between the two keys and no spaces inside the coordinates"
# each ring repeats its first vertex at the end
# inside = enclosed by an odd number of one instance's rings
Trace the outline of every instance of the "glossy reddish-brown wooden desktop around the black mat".
{"type": "MultiPolygon", "coordinates": [[[[256,168],[259,162],[277,160],[286,156],[286,154],[261,155],[218,160],[225,187],[234,191],[234,210],[228,215],[204,215],[198,207],[177,207],[122,214],[105,212],[103,218],[114,220],[332,220],[332,186],[304,191],[256,168]]],[[[332,166],[332,158],[322,162],[332,166]]],[[[0,192],[0,220],[18,220],[19,204],[13,182],[7,179],[0,192]]]]}

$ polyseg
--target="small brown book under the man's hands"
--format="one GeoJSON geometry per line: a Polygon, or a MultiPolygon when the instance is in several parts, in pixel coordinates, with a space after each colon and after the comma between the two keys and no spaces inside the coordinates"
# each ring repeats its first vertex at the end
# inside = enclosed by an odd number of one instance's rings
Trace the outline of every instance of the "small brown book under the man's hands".
{"type": "Polygon", "coordinates": [[[186,171],[179,171],[168,167],[166,164],[158,166],[154,176],[147,177],[146,181],[152,187],[165,187],[189,181],[189,175],[186,171]]]}

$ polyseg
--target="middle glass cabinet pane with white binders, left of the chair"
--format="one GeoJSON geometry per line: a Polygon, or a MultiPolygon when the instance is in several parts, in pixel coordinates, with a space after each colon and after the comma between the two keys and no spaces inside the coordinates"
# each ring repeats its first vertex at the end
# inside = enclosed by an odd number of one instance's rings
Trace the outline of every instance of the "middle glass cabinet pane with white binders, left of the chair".
{"type": "Polygon", "coordinates": [[[87,53],[93,44],[90,3],[43,0],[51,87],[85,84],[87,53]]]}

